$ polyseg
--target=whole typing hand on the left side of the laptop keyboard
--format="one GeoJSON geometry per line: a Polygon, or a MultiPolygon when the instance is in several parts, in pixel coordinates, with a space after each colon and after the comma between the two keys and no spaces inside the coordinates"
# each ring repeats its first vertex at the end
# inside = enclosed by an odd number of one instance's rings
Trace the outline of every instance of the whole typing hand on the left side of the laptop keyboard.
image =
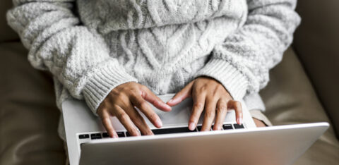
{"type": "Polygon", "coordinates": [[[112,126],[111,116],[116,116],[132,136],[141,135],[137,128],[142,135],[153,135],[143,117],[134,108],[137,107],[155,127],[160,128],[162,126],[160,117],[148,102],[162,111],[171,111],[171,107],[162,102],[145,85],[126,82],[109,92],[97,109],[97,114],[111,138],[118,138],[117,132],[112,126]]]}

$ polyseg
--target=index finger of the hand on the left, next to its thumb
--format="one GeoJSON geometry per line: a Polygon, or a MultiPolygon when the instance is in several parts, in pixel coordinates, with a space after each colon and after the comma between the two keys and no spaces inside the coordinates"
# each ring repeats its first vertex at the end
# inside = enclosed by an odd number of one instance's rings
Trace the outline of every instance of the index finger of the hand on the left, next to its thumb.
{"type": "Polygon", "coordinates": [[[160,117],[157,116],[155,111],[153,111],[152,107],[150,107],[150,104],[145,101],[140,95],[135,94],[131,97],[131,102],[134,106],[138,107],[140,111],[145,114],[145,116],[148,118],[148,120],[153,123],[153,125],[157,128],[162,127],[162,122],[160,120],[160,117]]]}

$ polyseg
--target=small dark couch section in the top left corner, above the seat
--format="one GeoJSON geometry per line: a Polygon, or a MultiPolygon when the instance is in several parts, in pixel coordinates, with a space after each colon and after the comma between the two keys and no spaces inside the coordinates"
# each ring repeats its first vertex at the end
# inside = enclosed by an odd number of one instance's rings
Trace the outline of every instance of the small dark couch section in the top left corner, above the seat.
{"type": "Polygon", "coordinates": [[[12,7],[11,0],[1,0],[0,3],[0,43],[19,39],[16,32],[7,25],[6,12],[12,7]]]}

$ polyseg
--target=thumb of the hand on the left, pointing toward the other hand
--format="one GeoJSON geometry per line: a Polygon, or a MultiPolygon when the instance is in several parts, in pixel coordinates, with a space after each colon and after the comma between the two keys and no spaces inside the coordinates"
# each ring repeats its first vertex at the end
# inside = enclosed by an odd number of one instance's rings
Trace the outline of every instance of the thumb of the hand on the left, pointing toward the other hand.
{"type": "Polygon", "coordinates": [[[157,109],[160,109],[162,111],[171,111],[171,106],[165,104],[165,102],[162,102],[162,100],[157,97],[152,91],[148,89],[148,87],[142,87],[141,88],[141,97],[145,99],[147,102],[150,102],[150,104],[153,104],[157,109]]]}

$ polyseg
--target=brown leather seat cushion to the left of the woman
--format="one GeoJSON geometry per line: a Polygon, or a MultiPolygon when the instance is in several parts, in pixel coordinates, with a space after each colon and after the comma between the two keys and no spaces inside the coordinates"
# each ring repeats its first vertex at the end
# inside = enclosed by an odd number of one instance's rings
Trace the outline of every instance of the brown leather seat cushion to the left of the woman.
{"type": "Polygon", "coordinates": [[[0,164],[65,164],[51,78],[20,43],[0,44],[0,164]]]}

